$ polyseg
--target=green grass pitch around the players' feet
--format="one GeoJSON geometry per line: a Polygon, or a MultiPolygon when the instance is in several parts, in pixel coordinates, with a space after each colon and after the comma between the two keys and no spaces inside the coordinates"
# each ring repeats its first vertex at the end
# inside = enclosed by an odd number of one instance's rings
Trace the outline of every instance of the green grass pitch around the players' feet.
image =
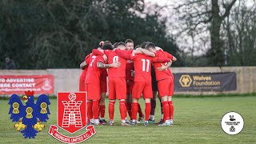
{"type": "MultiPolygon", "coordinates": [[[[116,126],[96,126],[97,134],[89,143],[255,143],[256,142],[256,97],[225,98],[173,98],[174,126],[141,125],[120,126],[118,102],[115,104],[116,126]],[[221,118],[228,111],[242,114],[245,126],[240,134],[228,135],[222,131],[221,118]]],[[[7,114],[8,100],[0,100],[0,143],[60,143],[47,134],[50,124],[57,122],[56,99],[50,99],[50,120],[34,139],[22,138],[14,129],[14,122],[7,114]]],[[[106,100],[106,103],[108,101],[106,100]]],[[[142,109],[145,105],[140,100],[142,109]]],[[[108,118],[106,107],[106,118],[108,118]]],[[[159,102],[156,121],[160,118],[159,102]]],[[[70,135],[60,130],[62,134],[70,135]]],[[[75,135],[82,134],[80,130],[75,135]]]]}

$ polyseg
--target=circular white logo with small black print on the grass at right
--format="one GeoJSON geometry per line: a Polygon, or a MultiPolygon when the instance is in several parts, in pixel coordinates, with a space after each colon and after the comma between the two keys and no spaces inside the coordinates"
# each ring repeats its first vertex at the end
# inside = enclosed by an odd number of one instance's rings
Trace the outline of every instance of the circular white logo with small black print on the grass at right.
{"type": "Polygon", "coordinates": [[[242,131],[243,118],[237,112],[228,112],[222,117],[222,130],[226,134],[234,135],[242,131]]]}

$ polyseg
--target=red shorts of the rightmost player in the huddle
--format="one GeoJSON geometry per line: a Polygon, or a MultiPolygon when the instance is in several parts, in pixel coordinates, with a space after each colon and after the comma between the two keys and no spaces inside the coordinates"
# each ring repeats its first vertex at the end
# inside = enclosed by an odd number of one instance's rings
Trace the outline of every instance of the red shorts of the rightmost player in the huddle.
{"type": "Polygon", "coordinates": [[[174,81],[173,78],[162,79],[158,81],[159,97],[174,95],[174,81]]]}

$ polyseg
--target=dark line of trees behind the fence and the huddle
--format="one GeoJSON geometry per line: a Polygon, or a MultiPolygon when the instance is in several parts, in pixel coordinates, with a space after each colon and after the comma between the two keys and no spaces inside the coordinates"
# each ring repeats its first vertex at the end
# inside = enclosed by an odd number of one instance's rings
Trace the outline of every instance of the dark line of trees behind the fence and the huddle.
{"type": "Polygon", "coordinates": [[[256,62],[256,6],[246,6],[245,0],[187,0],[164,7],[146,6],[143,0],[0,0],[0,6],[2,68],[8,56],[18,69],[78,68],[98,42],[126,38],[134,46],[154,42],[178,58],[174,66],[256,62]],[[168,30],[175,22],[163,8],[176,14],[177,34],[168,30]],[[209,38],[200,40],[210,42],[205,53],[194,54],[194,45],[179,46],[182,34],[193,39],[201,32],[209,38]]]}

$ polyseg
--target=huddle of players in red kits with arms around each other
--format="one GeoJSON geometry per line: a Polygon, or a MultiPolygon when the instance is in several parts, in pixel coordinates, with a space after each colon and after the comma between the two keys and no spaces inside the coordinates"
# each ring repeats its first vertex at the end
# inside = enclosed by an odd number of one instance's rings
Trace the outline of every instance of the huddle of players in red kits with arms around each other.
{"type": "Polygon", "coordinates": [[[100,42],[100,45],[96,46],[81,63],[80,67],[83,71],[80,76],[79,90],[87,92],[90,123],[106,125],[104,119],[106,77],[109,77],[110,126],[114,126],[116,99],[119,101],[122,126],[141,122],[144,118],[138,104],[141,95],[146,102],[144,125],[148,126],[149,120],[154,122],[152,114],[154,114],[156,93],[153,97],[151,84],[151,66],[153,66],[163,112],[163,122],[158,126],[173,124],[174,106],[171,96],[174,94],[174,77],[169,67],[172,62],[176,61],[176,58],[154,46],[152,42],[143,42],[136,48],[134,50],[134,42],[130,39],[127,39],[125,43],[114,43],[114,46],[108,41],[100,42]],[[108,73],[106,69],[108,69],[108,73]],[[130,115],[130,122],[126,121],[127,112],[130,115]],[[98,118],[99,113],[100,118],[98,118]]]}

